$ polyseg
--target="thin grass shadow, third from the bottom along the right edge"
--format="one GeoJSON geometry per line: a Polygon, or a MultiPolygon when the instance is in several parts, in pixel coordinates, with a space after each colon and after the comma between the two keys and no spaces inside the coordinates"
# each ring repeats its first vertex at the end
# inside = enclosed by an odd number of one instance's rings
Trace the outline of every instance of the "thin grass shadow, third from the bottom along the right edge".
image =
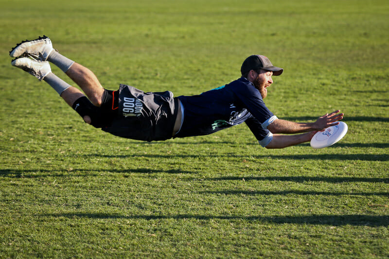
{"type": "Polygon", "coordinates": [[[215,178],[205,178],[203,181],[285,181],[285,182],[328,182],[328,183],[349,183],[349,182],[367,182],[367,183],[389,183],[389,178],[368,178],[368,177],[323,177],[323,176],[258,176],[258,177],[236,177],[223,176],[215,178]]]}

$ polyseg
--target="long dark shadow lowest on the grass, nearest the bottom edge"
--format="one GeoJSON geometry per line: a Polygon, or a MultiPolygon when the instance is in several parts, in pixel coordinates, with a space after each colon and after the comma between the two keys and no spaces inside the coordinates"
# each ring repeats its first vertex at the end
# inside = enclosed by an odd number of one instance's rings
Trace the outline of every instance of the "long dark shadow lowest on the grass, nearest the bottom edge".
{"type": "Polygon", "coordinates": [[[313,224],[313,225],[356,225],[356,226],[388,226],[389,215],[303,215],[303,216],[240,216],[240,215],[111,215],[105,213],[54,213],[42,214],[42,217],[66,217],[66,218],[88,218],[88,219],[195,219],[195,220],[246,220],[275,224],[313,224]]]}

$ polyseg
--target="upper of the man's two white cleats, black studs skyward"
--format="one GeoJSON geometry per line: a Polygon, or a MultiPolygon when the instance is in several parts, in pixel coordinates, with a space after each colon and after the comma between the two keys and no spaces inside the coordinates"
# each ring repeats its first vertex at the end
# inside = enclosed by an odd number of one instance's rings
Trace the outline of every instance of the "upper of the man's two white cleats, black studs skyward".
{"type": "Polygon", "coordinates": [[[31,57],[37,61],[46,61],[47,57],[53,51],[53,44],[49,37],[43,35],[34,40],[22,41],[12,51],[11,57],[31,57]]]}

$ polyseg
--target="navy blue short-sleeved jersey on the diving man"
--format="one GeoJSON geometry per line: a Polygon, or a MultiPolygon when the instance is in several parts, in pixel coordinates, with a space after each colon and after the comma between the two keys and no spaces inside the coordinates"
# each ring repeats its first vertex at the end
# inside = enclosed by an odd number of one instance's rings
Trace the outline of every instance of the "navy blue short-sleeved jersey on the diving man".
{"type": "Polygon", "coordinates": [[[266,127],[277,117],[267,109],[261,93],[244,77],[202,94],[178,99],[183,104],[184,121],[177,138],[208,135],[246,121],[260,143],[270,138],[267,145],[272,139],[266,127]]]}

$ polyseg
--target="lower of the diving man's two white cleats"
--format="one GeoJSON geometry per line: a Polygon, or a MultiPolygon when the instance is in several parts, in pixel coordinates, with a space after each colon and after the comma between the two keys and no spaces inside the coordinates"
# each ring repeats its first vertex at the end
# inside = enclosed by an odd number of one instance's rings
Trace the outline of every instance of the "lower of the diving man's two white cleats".
{"type": "Polygon", "coordinates": [[[11,64],[14,67],[29,72],[39,79],[39,81],[42,81],[42,79],[52,71],[48,61],[39,62],[29,59],[28,57],[17,58],[13,60],[11,64]]]}

